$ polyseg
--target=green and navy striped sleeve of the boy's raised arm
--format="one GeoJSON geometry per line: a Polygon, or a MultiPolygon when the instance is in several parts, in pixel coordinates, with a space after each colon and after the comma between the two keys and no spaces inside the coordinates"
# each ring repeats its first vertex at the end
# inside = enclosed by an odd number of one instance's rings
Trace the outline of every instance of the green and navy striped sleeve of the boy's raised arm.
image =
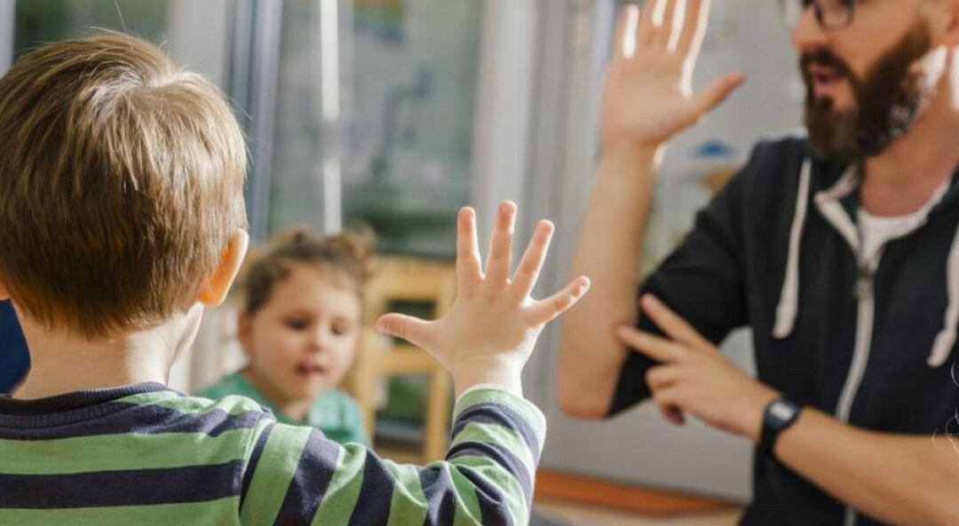
{"type": "Polygon", "coordinates": [[[536,406],[490,388],[456,401],[446,458],[425,467],[266,418],[246,465],[241,522],[524,525],[545,433],[536,406]]]}

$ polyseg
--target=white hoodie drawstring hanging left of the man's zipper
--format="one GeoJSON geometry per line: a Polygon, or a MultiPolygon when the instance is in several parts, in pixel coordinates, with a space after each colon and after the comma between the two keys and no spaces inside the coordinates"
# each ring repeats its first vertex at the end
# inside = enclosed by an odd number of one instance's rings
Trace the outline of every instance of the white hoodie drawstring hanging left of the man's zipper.
{"type": "Polygon", "coordinates": [[[796,213],[789,229],[789,252],[786,254],[783,290],[780,292],[779,306],[776,307],[776,324],[773,326],[773,337],[779,339],[792,333],[799,312],[799,243],[803,236],[803,225],[806,223],[811,172],[812,163],[807,158],[799,174],[799,193],[796,194],[796,213]]]}

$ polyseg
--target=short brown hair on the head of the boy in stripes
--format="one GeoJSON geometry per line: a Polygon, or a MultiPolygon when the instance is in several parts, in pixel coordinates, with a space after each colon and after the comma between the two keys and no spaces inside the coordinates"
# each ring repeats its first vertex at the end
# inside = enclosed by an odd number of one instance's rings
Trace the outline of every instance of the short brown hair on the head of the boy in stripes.
{"type": "Polygon", "coordinates": [[[47,328],[158,325],[246,227],[245,174],[219,90],[151,44],[41,47],[0,79],[0,284],[47,328]]]}

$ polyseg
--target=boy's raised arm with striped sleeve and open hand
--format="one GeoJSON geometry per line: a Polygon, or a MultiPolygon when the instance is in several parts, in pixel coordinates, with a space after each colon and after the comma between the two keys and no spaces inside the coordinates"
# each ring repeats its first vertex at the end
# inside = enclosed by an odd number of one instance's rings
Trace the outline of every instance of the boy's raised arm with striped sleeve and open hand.
{"type": "Polygon", "coordinates": [[[522,398],[520,373],[546,323],[573,306],[578,279],[543,302],[529,297],[552,234],[536,229],[512,280],[515,205],[500,208],[485,275],[475,215],[459,215],[456,301],[441,319],[389,314],[379,327],[430,351],[456,381],[453,444],[446,460],[397,465],[359,445],[265,420],[249,455],[240,506],[244,524],[525,525],[546,420],[522,398]]]}

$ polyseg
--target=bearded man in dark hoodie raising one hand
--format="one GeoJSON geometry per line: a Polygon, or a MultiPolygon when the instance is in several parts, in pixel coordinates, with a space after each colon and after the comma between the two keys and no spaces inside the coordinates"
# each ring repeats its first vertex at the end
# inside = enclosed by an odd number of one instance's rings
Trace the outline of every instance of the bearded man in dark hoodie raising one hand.
{"type": "Polygon", "coordinates": [[[785,0],[807,133],[760,142],[638,284],[667,142],[743,80],[690,90],[707,4],[620,21],[560,405],[603,418],[651,398],[752,441],[745,526],[957,525],[959,0],[785,0]],[[716,350],[739,327],[758,378],[716,350]]]}

